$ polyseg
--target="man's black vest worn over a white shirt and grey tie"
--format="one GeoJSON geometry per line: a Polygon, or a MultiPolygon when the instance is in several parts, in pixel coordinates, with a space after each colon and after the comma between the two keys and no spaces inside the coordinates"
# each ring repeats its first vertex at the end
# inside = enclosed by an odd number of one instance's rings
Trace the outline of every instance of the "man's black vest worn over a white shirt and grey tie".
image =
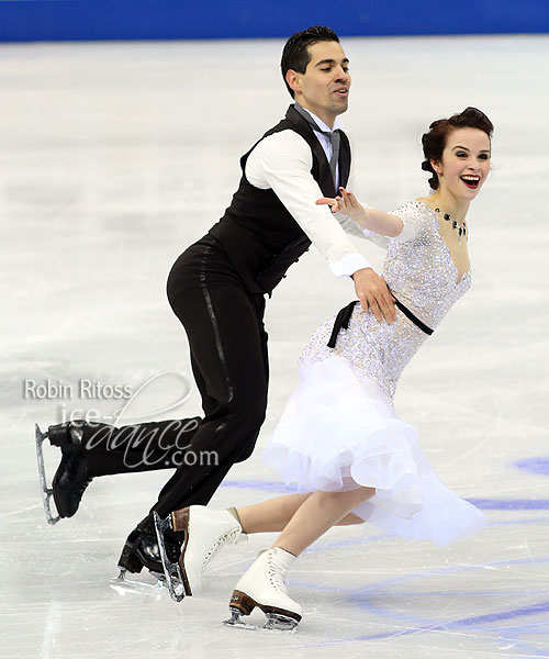
{"type": "MultiPolygon", "coordinates": [[[[324,197],[335,197],[334,179],[326,154],[309,123],[290,105],[278,125],[261,137],[294,131],[305,139],[313,154],[311,174],[324,197]]],[[[339,181],[347,185],[350,169],[349,141],[341,131],[339,181]]],[[[261,142],[259,139],[259,142],[261,142]]],[[[311,241],[271,189],[260,190],[245,176],[249,154],[240,158],[243,177],[224,216],[210,230],[227,254],[250,293],[271,293],[292,263],[309,249],[311,241]]]]}

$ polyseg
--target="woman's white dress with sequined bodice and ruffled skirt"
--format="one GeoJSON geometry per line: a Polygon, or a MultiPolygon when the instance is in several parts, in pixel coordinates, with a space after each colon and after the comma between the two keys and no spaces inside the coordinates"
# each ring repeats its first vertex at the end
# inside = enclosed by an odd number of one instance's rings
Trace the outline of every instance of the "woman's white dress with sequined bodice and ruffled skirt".
{"type": "MultiPolygon", "coordinates": [[[[394,214],[404,228],[389,241],[383,277],[395,298],[434,330],[470,287],[470,272],[457,281],[427,205],[412,201],[394,214]]],[[[427,338],[395,311],[394,323],[380,323],[357,304],[334,349],[327,343],[335,316],[316,330],[300,358],[301,383],[261,460],[300,492],[376,488],[354,509],[356,515],[388,534],[445,545],[479,530],[485,516],[444,485],[417,429],[394,412],[396,382],[427,338]]]]}

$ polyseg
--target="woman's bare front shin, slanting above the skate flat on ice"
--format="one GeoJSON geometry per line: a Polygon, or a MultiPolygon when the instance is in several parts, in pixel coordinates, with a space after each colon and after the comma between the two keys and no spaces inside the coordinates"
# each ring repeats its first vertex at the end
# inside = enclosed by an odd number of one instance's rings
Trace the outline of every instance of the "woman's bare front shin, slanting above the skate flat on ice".
{"type": "Polygon", "coordinates": [[[341,522],[355,506],[373,494],[374,488],[358,488],[348,492],[313,492],[298,507],[272,547],[280,547],[299,556],[328,528],[341,522]]]}

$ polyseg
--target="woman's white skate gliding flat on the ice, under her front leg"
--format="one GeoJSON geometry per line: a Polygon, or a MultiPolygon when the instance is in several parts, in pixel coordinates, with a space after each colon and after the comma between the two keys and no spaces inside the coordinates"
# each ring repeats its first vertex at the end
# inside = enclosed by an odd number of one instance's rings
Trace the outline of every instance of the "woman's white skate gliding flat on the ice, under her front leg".
{"type": "Polygon", "coordinates": [[[302,608],[288,596],[285,579],[295,556],[280,547],[262,551],[233,591],[227,625],[253,627],[240,621],[258,606],[267,616],[265,629],[293,632],[301,621],[302,608]]]}

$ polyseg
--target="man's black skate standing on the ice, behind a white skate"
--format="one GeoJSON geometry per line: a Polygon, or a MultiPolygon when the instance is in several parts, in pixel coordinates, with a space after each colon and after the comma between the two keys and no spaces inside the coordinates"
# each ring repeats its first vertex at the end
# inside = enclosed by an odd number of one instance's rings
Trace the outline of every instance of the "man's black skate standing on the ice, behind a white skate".
{"type": "MultiPolygon", "coordinates": [[[[179,558],[182,544],[182,539],[178,535],[180,534],[171,533],[165,538],[166,552],[169,559],[175,562],[179,558]]],[[[153,588],[165,587],[166,578],[163,559],[160,557],[155,525],[150,515],[139,522],[127,536],[121,557],[119,558],[120,574],[112,582],[119,585],[148,587],[149,584],[130,581],[125,578],[126,572],[138,573],[143,568],[146,568],[158,580],[158,583],[153,588]]]]}

